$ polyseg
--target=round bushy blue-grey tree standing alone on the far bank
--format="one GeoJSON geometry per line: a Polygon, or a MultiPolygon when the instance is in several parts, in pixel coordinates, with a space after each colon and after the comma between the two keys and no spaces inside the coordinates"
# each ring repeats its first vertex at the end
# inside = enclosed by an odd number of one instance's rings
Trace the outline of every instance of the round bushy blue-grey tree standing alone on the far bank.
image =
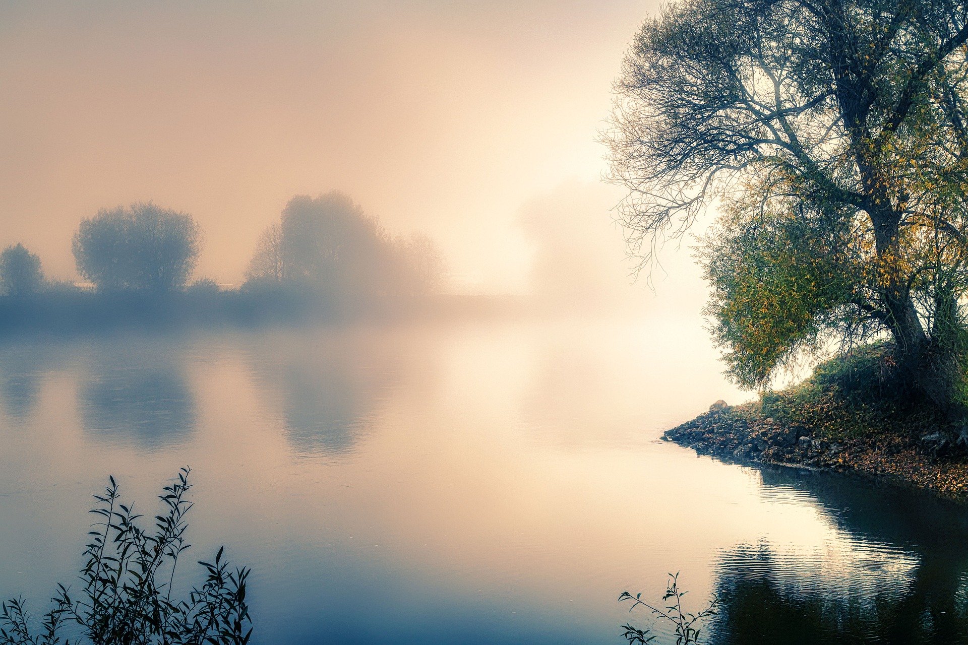
{"type": "Polygon", "coordinates": [[[151,202],[99,211],[80,221],[72,249],[77,273],[99,290],[182,289],[201,246],[192,216],[151,202]]]}

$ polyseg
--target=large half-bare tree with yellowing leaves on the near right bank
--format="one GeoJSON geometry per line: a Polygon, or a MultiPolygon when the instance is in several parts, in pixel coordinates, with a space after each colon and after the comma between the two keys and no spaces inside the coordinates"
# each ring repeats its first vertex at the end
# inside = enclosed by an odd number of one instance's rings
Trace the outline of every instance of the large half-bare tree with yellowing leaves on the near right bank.
{"type": "Polygon", "coordinates": [[[605,139],[647,265],[718,200],[707,313],[730,373],[769,382],[889,335],[964,418],[964,0],[684,0],[647,20],[605,139]]]}

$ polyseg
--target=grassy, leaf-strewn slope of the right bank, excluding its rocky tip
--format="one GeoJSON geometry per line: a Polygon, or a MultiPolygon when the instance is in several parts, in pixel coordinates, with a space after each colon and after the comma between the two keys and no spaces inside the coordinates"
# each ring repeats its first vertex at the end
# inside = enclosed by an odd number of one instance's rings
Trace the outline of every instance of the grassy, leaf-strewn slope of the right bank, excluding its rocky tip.
{"type": "Polygon", "coordinates": [[[797,427],[810,445],[770,447],[762,461],[855,471],[968,501],[968,446],[953,442],[944,415],[905,386],[890,343],[855,348],[816,366],[801,383],[727,413],[758,428],[797,427]],[[821,448],[813,440],[819,440],[821,448]]]}

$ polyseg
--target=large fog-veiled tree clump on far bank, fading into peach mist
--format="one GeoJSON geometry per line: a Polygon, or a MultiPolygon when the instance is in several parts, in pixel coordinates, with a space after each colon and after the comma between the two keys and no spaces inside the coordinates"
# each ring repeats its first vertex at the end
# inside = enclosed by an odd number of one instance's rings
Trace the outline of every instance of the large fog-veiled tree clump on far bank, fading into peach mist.
{"type": "Polygon", "coordinates": [[[291,284],[334,297],[415,295],[437,288],[442,256],[426,235],[393,238],[348,195],[297,195],[260,235],[247,286],[291,284]]]}

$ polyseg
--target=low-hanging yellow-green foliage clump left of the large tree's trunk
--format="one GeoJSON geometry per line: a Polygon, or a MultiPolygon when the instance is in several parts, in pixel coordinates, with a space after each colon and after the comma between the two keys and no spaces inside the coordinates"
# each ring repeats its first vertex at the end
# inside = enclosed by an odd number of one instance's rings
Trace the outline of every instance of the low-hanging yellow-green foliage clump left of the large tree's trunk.
{"type": "Polygon", "coordinates": [[[706,314],[740,385],[765,385],[777,366],[815,349],[852,297],[852,265],[835,220],[766,215],[721,222],[703,249],[706,314]]]}

